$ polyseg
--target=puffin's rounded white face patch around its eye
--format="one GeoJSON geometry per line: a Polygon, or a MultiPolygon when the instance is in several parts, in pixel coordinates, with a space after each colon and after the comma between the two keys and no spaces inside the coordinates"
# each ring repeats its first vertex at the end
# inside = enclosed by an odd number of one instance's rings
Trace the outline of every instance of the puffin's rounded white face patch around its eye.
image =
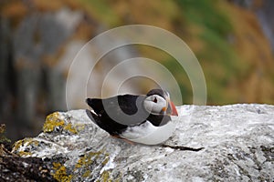
{"type": "Polygon", "coordinates": [[[168,101],[158,95],[147,96],[143,101],[143,106],[150,113],[163,114],[168,106],[168,101]]]}

